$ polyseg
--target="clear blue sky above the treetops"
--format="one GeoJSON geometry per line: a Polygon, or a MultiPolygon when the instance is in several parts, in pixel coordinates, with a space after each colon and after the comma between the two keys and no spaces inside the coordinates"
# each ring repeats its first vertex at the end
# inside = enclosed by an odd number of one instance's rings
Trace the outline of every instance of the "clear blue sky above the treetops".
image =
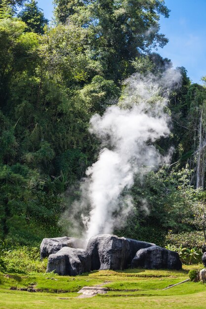
{"type": "MultiPolygon", "coordinates": [[[[193,82],[206,76],[206,0],[165,0],[171,10],[168,19],[160,20],[161,33],[169,43],[158,52],[183,66],[193,82]]],[[[52,0],[39,0],[45,17],[52,18],[52,0]]]]}

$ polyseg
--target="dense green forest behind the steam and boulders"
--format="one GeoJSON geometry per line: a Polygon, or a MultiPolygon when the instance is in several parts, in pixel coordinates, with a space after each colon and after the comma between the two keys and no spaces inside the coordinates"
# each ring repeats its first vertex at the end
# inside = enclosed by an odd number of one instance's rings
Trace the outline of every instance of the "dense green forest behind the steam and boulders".
{"type": "MultiPolygon", "coordinates": [[[[0,0],[1,248],[79,236],[71,207],[101,149],[90,118],[121,106],[126,78],[172,67],[156,52],[168,42],[160,16],[169,17],[163,0],[54,0],[49,23],[36,0],[0,0]]],[[[170,134],[154,143],[162,155],[172,147],[171,160],[135,176],[132,210],[114,233],[204,250],[206,77],[192,83],[177,70],[170,134]]]]}

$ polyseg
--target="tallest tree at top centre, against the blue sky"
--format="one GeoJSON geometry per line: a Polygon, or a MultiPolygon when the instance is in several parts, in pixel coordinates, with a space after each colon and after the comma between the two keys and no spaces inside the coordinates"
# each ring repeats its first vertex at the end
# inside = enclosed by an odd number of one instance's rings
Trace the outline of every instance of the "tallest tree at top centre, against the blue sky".
{"type": "Polygon", "coordinates": [[[162,0],[55,0],[56,19],[88,29],[90,57],[101,64],[106,79],[119,83],[134,72],[136,57],[167,43],[159,33],[160,14],[169,16],[162,0]]]}

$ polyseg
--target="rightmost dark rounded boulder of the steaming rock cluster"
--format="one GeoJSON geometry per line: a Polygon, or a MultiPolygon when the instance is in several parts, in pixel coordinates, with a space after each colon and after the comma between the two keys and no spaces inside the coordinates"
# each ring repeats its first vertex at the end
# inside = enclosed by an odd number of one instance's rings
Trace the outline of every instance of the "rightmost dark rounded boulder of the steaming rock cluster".
{"type": "Polygon", "coordinates": [[[181,270],[179,254],[159,246],[140,249],[131,262],[133,268],[181,270]]]}

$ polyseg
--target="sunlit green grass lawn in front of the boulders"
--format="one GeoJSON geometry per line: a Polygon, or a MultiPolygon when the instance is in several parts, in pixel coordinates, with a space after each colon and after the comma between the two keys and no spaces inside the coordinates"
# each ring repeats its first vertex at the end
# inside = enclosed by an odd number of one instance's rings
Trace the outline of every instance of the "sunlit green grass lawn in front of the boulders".
{"type": "Polygon", "coordinates": [[[165,287],[188,278],[188,267],[183,270],[125,270],[93,271],[77,277],[54,274],[0,273],[0,309],[15,308],[174,308],[205,309],[206,284],[186,282],[167,290],[165,287]],[[107,294],[79,299],[77,292],[83,286],[104,283],[107,294]],[[11,290],[10,288],[17,289],[11,290]],[[34,287],[39,292],[20,291],[34,287]]]}

